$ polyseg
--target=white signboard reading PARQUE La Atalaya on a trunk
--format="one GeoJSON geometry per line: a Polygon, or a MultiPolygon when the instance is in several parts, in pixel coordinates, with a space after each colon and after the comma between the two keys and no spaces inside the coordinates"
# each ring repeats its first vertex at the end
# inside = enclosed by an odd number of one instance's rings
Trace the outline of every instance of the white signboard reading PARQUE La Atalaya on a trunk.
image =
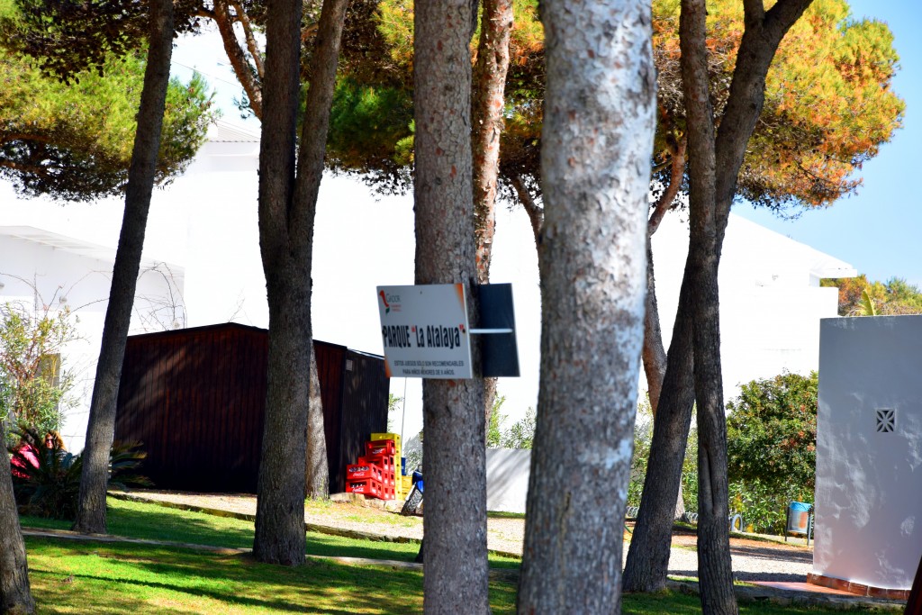
{"type": "Polygon", "coordinates": [[[464,284],[379,286],[387,376],[472,378],[464,284]]]}

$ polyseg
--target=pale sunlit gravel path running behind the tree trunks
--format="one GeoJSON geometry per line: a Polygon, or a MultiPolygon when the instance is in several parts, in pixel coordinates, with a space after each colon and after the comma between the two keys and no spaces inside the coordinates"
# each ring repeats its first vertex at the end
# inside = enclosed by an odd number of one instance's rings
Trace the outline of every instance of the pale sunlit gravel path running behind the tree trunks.
{"type": "MultiPolygon", "coordinates": [[[[253,495],[182,493],[172,491],[133,491],[131,499],[165,502],[234,514],[256,514],[253,495]]],[[[349,530],[366,535],[389,538],[422,538],[422,519],[403,517],[394,512],[372,508],[361,503],[330,503],[308,505],[304,522],[318,528],[349,530]]],[[[491,518],[487,522],[487,545],[491,550],[521,555],[525,520],[491,518]]],[[[629,535],[626,535],[629,536],[629,535]]],[[[627,557],[627,542],[624,557],[627,557]]],[[[802,546],[790,546],[753,539],[732,538],[730,550],[733,575],[739,581],[804,581],[812,570],[813,551],[802,546]]],[[[694,535],[673,537],[669,555],[669,574],[698,576],[698,553],[694,535]]]]}

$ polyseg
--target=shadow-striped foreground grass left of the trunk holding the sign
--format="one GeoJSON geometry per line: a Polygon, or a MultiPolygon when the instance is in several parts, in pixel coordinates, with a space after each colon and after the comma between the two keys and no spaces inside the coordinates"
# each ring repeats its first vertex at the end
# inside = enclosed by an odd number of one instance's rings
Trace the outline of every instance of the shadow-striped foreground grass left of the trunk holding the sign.
{"type": "Polygon", "coordinates": [[[73,597],[66,596],[77,592],[86,612],[189,612],[210,605],[206,612],[269,609],[345,615],[415,612],[422,607],[422,574],[417,571],[316,561],[284,567],[254,562],[242,554],[42,542],[30,539],[32,574],[39,582],[42,606],[73,606],[73,597]],[[34,552],[42,556],[33,557],[34,552]],[[110,603],[117,609],[106,606],[110,603]]]}

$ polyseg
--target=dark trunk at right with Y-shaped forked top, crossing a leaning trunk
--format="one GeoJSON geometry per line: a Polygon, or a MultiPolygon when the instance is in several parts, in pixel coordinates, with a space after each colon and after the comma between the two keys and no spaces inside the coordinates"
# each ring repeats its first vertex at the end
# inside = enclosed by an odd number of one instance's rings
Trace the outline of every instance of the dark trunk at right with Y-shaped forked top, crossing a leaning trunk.
{"type": "Polygon", "coordinates": [[[744,2],[745,30],[727,107],[715,136],[708,91],[704,0],[682,0],[682,94],[689,124],[694,388],[698,402],[698,569],[705,614],[735,614],[727,525],[727,422],[720,365],[717,271],[746,144],[762,112],[765,76],[778,43],[810,5],[779,0],[767,13],[744,2]]]}

